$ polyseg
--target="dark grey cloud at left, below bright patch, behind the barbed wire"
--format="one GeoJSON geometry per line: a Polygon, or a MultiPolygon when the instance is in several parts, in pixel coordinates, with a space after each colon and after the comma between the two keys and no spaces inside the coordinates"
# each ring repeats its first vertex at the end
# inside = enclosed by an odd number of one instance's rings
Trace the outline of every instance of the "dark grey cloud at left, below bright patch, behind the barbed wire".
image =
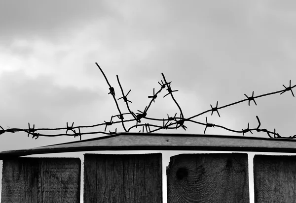
{"type": "MultiPolygon", "coordinates": [[[[96,120],[102,121],[103,115],[108,115],[102,105],[106,104],[106,97],[100,93],[87,88],[58,87],[49,76],[34,79],[23,71],[1,73],[0,95],[0,125],[4,129],[26,129],[28,122],[31,126],[35,124],[36,128],[65,127],[66,122],[89,125],[97,123],[96,120]]],[[[70,142],[71,138],[39,138],[32,142],[25,133],[5,133],[0,140],[2,150],[7,150],[70,142]],[[22,142],[16,142],[11,136],[22,142]]]]}

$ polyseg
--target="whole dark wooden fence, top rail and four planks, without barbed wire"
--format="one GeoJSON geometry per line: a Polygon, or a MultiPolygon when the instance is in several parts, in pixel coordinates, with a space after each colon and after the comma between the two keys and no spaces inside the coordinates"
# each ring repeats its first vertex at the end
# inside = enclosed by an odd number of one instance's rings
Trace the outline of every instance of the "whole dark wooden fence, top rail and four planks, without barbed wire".
{"type": "MultiPolygon", "coordinates": [[[[30,154],[89,150],[221,150],[295,152],[292,139],[123,133],[0,152],[2,203],[79,203],[78,158],[30,154]]],[[[161,203],[162,154],[85,154],[84,203],[161,203]]],[[[255,202],[296,201],[295,156],[255,155],[255,202]]],[[[248,203],[247,153],[179,154],[167,167],[168,203],[248,203]]]]}

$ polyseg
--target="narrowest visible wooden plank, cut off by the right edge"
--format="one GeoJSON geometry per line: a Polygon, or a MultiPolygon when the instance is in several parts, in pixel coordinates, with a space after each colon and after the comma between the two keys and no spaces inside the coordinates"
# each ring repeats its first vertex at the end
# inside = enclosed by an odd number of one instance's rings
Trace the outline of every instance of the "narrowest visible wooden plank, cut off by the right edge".
{"type": "Polygon", "coordinates": [[[255,155],[256,203],[296,202],[296,156],[255,155]]]}

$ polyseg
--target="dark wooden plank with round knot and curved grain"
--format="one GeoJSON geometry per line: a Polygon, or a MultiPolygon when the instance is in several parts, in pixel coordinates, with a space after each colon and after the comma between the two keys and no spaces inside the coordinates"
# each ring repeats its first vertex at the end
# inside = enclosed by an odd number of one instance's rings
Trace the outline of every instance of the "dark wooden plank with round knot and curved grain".
{"type": "Polygon", "coordinates": [[[248,154],[179,154],[167,167],[168,203],[249,203],[248,154]]]}

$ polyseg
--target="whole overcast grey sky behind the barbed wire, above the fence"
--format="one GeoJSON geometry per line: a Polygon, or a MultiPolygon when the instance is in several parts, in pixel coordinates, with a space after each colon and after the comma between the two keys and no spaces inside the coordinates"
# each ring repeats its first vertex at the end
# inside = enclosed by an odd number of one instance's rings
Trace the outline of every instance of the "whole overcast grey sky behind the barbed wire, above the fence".
{"type": "MultiPolygon", "coordinates": [[[[116,75],[132,111],[143,111],[163,73],[184,117],[248,96],[296,83],[296,2],[292,0],[0,0],[0,126],[35,128],[93,125],[109,121],[117,109],[109,87],[121,97],[116,75]]],[[[174,115],[178,108],[163,90],[149,117],[174,115]]],[[[127,112],[122,100],[120,109],[127,112]]],[[[208,121],[231,129],[276,129],[296,134],[296,102],[291,92],[237,104],[208,121]]],[[[162,133],[202,134],[204,126],[162,133]]],[[[108,130],[123,132],[121,125],[108,130]]],[[[85,130],[85,129],[83,129],[85,130]]],[[[93,129],[104,131],[104,126],[93,129]]],[[[85,131],[83,131],[85,132],[85,131]]],[[[133,132],[138,132],[138,129],[133,132]]],[[[64,133],[64,132],[63,132],[64,133]]],[[[207,134],[233,135],[219,128],[207,134]]],[[[102,135],[84,136],[82,139],[102,135]]],[[[264,133],[245,136],[267,137],[264,133]]],[[[0,150],[65,143],[77,137],[0,135],[0,150]]],[[[136,152],[135,152],[136,153],[136,152]]],[[[167,156],[170,154],[165,152],[167,156]]],[[[80,155],[79,155],[80,156],[80,155]]]]}

